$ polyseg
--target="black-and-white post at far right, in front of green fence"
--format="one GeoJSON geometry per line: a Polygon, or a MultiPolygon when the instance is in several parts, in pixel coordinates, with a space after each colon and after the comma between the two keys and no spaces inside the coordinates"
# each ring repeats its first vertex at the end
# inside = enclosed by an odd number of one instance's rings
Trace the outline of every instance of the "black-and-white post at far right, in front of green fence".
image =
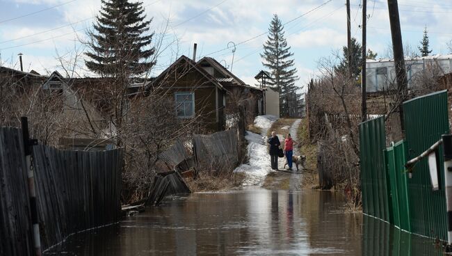
{"type": "Polygon", "coordinates": [[[446,184],[446,206],[447,206],[447,246],[446,252],[450,253],[452,244],[452,134],[443,134],[444,147],[444,182],[446,184]]]}

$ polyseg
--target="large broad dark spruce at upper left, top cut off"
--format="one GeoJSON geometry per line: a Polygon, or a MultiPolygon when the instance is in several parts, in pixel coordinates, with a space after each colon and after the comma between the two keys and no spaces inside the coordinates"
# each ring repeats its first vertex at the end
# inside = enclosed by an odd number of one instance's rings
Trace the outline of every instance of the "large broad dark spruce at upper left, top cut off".
{"type": "Polygon", "coordinates": [[[90,51],[86,67],[103,77],[133,77],[150,70],[154,65],[149,58],[154,33],[149,31],[152,19],[146,19],[143,3],[129,0],[101,0],[94,30],[89,32],[90,51]]]}

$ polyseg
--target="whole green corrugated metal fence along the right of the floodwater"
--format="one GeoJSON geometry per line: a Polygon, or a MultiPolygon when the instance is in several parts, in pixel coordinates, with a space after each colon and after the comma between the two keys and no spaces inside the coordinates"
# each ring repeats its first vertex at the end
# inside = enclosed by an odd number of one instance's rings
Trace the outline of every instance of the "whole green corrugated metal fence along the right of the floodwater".
{"type": "Polygon", "coordinates": [[[439,191],[433,191],[427,159],[414,167],[417,157],[449,133],[447,93],[442,91],[403,103],[405,141],[386,148],[385,122],[377,118],[360,124],[363,211],[407,232],[446,240],[447,218],[442,149],[438,156],[439,191]]]}

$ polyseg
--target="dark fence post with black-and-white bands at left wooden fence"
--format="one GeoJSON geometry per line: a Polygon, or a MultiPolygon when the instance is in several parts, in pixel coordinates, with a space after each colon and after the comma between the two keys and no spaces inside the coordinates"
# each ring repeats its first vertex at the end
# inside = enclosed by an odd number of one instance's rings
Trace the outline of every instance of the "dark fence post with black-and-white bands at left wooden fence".
{"type": "Polygon", "coordinates": [[[26,160],[27,176],[29,178],[29,197],[30,197],[30,211],[31,211],[31,225],[33,225],[33,246],[35,249],[34,255],[41,256],[41,241],[39,234],[38,223],[38,207],[36,206],[36,191],[35,191],[35,177],[33,171],[33,145],[37,145],[38,141],[30,139],[29,122],[26,117],[20,118],[22,125],[22,138],[24,140],[24,154],[26,160]]]}

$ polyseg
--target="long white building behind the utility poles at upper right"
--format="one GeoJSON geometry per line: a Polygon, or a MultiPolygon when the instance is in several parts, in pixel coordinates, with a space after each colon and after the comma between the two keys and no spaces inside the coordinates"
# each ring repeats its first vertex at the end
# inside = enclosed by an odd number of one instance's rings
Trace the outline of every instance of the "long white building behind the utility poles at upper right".
{"type": "MultiPolygon", "coordinates": [[[[407,58],[405,57],[405,69],[407,72],[408,88],[416,77],[417,72],[437,65],[444,74],[452,71],[452,54],[434,55],[426,57],[407,58]]],[[[396,71],[394,59],[366,60],[366,91],[376,93],[391,89],[390,83],[396,83],[396,71]]]]}

